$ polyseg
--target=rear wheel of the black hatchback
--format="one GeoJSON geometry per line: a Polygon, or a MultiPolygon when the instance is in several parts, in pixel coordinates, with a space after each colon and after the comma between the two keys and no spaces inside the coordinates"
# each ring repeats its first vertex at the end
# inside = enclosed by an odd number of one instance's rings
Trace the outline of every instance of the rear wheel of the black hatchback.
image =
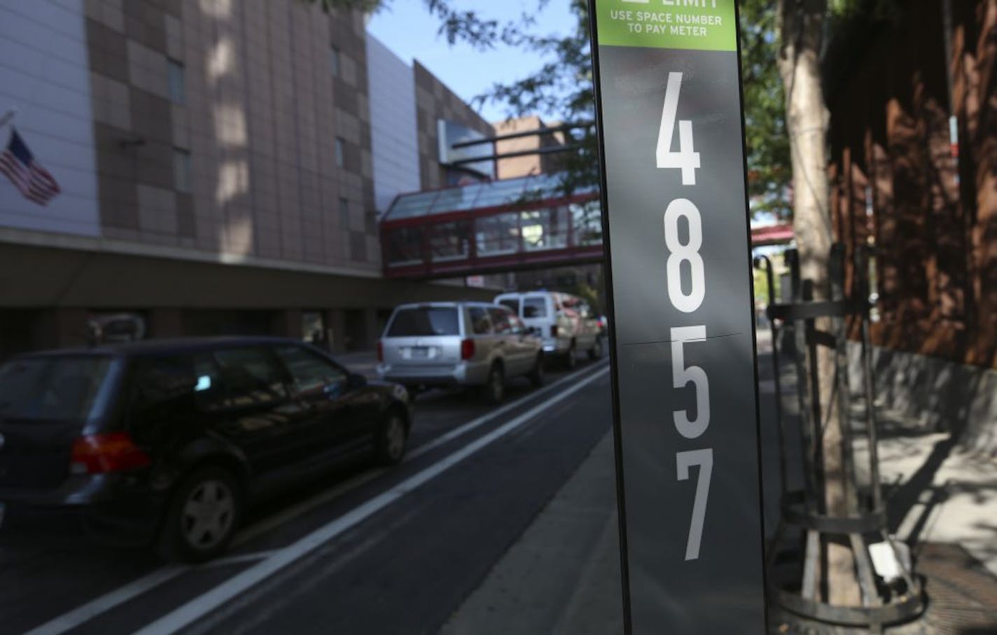
{"type": "Polygon", "coordinates": [[[242,515],[238,482],[216,466],[198,468],[173,491],[160,532],[169,561],[203,562],[228,546],[242,515]]]}

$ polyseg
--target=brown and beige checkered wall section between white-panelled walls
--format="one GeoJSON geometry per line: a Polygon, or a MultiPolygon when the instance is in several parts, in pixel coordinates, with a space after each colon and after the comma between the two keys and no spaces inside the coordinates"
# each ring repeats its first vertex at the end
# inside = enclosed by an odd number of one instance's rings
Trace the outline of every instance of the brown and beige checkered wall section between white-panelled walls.
{"type": "Polygon", "coordinates": [[[364,221],[374,195],[362,18],[270,0],[87,0],[86,14],[105,235],[380,268],[364,221]],[[183,65],[180,103],[168,60],[183,65]],[[189,192],[177,189],[177,151],[189,153],[189,192]]]}

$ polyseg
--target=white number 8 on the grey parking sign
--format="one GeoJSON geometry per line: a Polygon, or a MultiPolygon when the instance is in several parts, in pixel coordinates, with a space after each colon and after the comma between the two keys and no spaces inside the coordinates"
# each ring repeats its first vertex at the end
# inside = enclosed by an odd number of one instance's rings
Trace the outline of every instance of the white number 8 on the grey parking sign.
{"type": "Polygon", "coordinates": [[[688,198],[676,198],[665,209],[665,245],[668,247],[668,262],[665,272],[668,280],[668,299],[676,309],[692,313],[703,303],[706,295],[706,280],[703,273],[703,258],[699,248],[703,244],[703,223],[699,208],[688,198]],[[679,218],[684,216],[689,224],[689,242],[679,240],[679,218]],[[689,293],[682,291],[682,263],[688,261],[692,277],[689,293]]]}

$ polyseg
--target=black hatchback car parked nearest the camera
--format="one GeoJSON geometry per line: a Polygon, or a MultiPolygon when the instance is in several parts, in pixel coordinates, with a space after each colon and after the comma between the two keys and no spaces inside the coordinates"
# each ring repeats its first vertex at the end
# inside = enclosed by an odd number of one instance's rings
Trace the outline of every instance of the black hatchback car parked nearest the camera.
{"type": "Polygon", "coordinates": [[[401,461],[406,391],[276,338],[58,350],[0,367],[0,513],[54,513],[168,559],[224,550],[246,504],[373,454],[401,461]]]}

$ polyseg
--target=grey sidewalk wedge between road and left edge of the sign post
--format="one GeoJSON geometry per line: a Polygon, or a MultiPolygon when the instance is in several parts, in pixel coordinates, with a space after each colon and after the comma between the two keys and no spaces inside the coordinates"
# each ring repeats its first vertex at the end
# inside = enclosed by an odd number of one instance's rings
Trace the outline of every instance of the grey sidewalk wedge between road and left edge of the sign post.
{"type": "Polygon", "coordinates": [[[622,634],[613,472],[607,434],[441,635],[622,634]]]}

